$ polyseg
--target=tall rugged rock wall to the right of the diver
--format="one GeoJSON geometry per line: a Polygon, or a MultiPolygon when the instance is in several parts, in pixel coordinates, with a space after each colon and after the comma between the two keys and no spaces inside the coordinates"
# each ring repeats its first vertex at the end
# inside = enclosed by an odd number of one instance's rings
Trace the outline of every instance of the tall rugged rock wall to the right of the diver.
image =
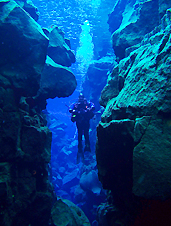
{"type": "MultiPolygon", "coordinates": [[[[144,2],[141,7],[154,3],[144,2]]],[[[162,2],[166,9],[167,1],[162,2]]],[[[131,47],[125,50],[127,57],[114,67],[101,95],[106,109],[97,127],[99,179],[105,189],[111,190],[116,206],[111,215],[124,225],[154,225],[156,219],[160,225],[164,219],[170,223],[170,217],[164,214],[171,198],[170,21],[171,10],[167,9],[159,26],[145,37],[141,34],[142,41],[133,42],[136,45],[130,42],[131,47]],[[152,222],[144,222],[142,215],[142,221],[136,221],[136,210],[149,202],[152,222]],[[123,211],[120,216],[119,209],[123,211]]],[[[122,32],[126,36],[127,30],[122,32]]]]}

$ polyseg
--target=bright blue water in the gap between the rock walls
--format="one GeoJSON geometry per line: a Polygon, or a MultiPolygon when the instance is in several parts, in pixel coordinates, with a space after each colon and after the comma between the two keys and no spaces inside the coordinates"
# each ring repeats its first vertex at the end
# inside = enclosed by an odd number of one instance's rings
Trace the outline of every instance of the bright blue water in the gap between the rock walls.
{"type": "Polygon", "coordinates": [[[48,125],[53,134],[51,180],[56,194],[70,199],[82,208],[90,222],[94,222],[92,225],[96,224],[97,206],[105,200],[105,191],[97,178],[95,157],[95,126],[100,117],[91,122],[91,154],[85,154],[84,164],[76,164],[77,131],[75,124],[71,122],[68,107],[77,100],[79,92],[82,91],[82,84],[92,60],[113,54],[107,14],[114,2],[33,0],[40,13],[38,23],[46,28],[52,25],[61,28],[65,38],[70,39],[71,50],[76,56],[76,63],[71,66],[78,83],[75,92],[68,98],[47,100],[48,125]],[[85,190],[80,188],[80,181],[85,190]]]}

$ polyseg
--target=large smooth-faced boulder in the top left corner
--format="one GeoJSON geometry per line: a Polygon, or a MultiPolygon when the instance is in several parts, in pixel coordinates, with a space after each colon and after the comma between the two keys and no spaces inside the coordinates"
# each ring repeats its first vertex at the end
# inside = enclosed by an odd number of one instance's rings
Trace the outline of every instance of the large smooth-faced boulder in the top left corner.
{"type": "Polygon", "coordinates": [[[15,1],[0,1],[0,73],[20,95],[36,95],[48,38],[15,1]]]}

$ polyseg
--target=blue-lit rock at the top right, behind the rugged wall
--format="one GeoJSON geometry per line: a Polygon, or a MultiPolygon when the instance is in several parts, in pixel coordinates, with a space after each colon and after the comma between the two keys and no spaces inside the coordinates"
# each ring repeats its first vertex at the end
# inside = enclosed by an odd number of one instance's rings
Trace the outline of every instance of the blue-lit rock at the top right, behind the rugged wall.
{"type": "Polygon", "coordinates": [[[108,20],[116,56],[123,59],[125,49],[140,43],[145,34],[158,26],[169,7],[169,1],[117,1],[108,20]]]}

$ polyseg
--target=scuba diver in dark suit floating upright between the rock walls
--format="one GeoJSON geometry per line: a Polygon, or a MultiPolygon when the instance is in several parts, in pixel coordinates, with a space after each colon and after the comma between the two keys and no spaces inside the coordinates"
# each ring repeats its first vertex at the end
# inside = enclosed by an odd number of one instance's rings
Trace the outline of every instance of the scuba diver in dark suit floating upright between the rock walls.
{"type": "Polygon", "coordinates": [[[71,113],[71,121],[76,122],[77,131],[78,131],[78,153],[77,153],[77,163],[79,163],[80,158],[84,161],[84,152],[89,151],[90,149],[90,140],[89,140],[89,128],[90,128],[90,119],[93,118],[95,106],[92,102],[87,101],[84,98],[82,93],[79,94],[78,101],[71,105],[69,112],[71,113]],[[82,146],[82,135],[84,134],[85,138],[85,148],[83,152],[82,146]]]}

